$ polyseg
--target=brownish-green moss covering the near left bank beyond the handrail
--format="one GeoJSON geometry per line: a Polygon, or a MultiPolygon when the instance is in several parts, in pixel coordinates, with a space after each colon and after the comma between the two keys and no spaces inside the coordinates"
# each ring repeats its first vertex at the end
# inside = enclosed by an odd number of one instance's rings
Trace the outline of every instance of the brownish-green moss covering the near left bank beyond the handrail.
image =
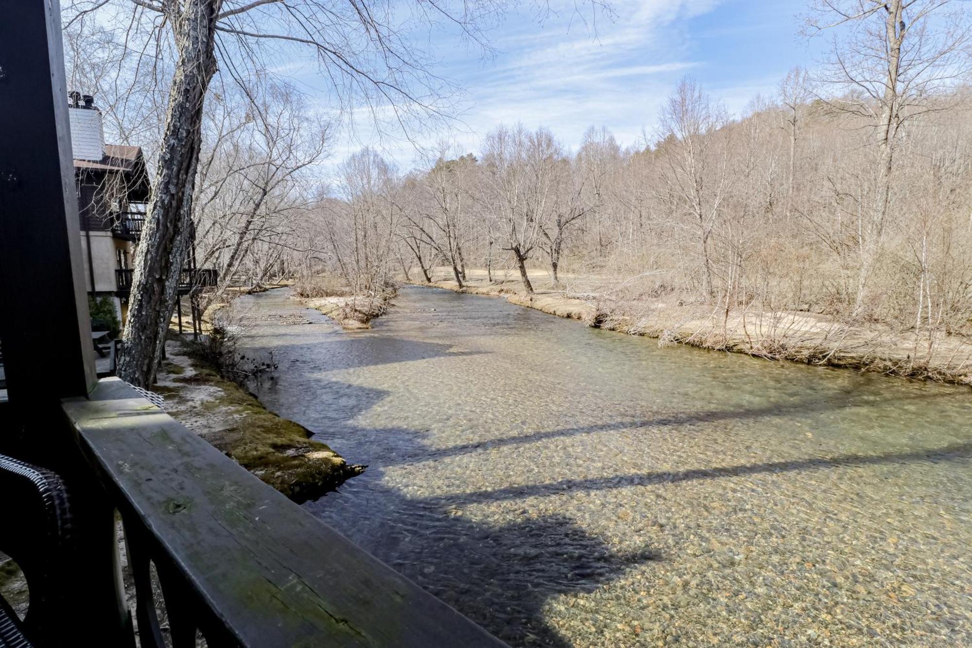
{"type": "MultiPolygon", "coordinates": [[[[349,465],[327,444],[311,439],[299,423],[268,411],[244,388],[221,378],[212,368],[193,361],[193,372],[173,378],[180,386],[156,385],[166,400],[180,398],[191,385],[216,387],[219,395],[193,406],[228,426],[198,430],[206,441],[295,502],[305,502],[359,475],[364,466],[349,465]],[[182,386],[185,385],[185,386],[182,386]]],[[[171,413],[179,418],[178,408],[171,413]]]]}

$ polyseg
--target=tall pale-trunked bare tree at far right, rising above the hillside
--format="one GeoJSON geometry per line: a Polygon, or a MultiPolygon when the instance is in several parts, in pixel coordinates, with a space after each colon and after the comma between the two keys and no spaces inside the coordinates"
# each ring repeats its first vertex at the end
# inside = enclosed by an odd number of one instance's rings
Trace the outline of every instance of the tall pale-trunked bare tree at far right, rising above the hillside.
{"type": "Polygon", "coordinates": [[[894,160],[906,126],[948,104],[939,99],[969,69],[972,21],[951,0],[819,0],[808,30],[839,30],[821,82],[844,92],[827,103],[870,123],[878,153],[875,187],[860,204],[860,270],[855,314],[865,313],[869,284],[884,248],[894,194],[894,160]],[[841,38],[843,37],[843,38],[841,38]]]}

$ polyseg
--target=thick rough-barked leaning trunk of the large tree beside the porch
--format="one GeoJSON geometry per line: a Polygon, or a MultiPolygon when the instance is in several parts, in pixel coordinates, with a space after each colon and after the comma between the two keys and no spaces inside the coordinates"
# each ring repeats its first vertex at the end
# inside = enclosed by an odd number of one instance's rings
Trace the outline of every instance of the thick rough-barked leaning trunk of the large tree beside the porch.
{"type": "Polygon", "coordinates": [[[124,353],[119,360],[119,376],[140,387],[155,381],[190,245],[202,106],[216,73],[220,5],[221,0],[187,0],[179,16],[169,17],[179,61],[169,91],[155,191],[135,254],[124,353]]]}

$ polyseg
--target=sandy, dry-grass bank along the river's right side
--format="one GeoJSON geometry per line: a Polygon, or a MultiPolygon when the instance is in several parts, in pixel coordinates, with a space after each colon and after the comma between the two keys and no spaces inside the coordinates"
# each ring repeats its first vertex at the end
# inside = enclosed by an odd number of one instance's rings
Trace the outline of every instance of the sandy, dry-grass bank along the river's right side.
{"type": "Polygon", "coordinates": [[[417,285],[503,297],[510,304],[578,319],[592,327],[656,338],[660,343],[972,385],[972,341],[944,332],[893,331],[878,323],[850,324],[810,312],[726,310],[623,299],[608,291],[556,290],[537,279],[532,296],[519,280],[490,283],[470,274],[465,283],[463,288],[451,279],[417,285]]]}

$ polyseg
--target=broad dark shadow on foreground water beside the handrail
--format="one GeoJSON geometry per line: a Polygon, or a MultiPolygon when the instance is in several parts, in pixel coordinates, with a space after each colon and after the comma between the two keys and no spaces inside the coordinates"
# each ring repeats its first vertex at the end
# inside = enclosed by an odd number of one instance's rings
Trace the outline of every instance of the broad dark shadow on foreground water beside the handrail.
{"type": "MultiPolygon", "coordinates": [[[[661,559],[650,547],[615,553],[566,515],[530,516],[521,511],[497,525],[472,521],[456,507],[403,497],[381,486],[380,474],[370,477],[376,479],[367,489],[372,507],[364,524],[345,515],[337,520],[328,515],[326,508],[342,497],[340,493],[328,495],[311,509],[512,646],[573,646],[545,619],[550,599],[593,593],[628,569],[661,559]],[[383,511],[375,510],[376,499],[383,511]],[[376,514],[380,521],[374,520],[376,514]]],[[[345,514],[357,511],[353,503],[347,504],[345,514]]]]}

